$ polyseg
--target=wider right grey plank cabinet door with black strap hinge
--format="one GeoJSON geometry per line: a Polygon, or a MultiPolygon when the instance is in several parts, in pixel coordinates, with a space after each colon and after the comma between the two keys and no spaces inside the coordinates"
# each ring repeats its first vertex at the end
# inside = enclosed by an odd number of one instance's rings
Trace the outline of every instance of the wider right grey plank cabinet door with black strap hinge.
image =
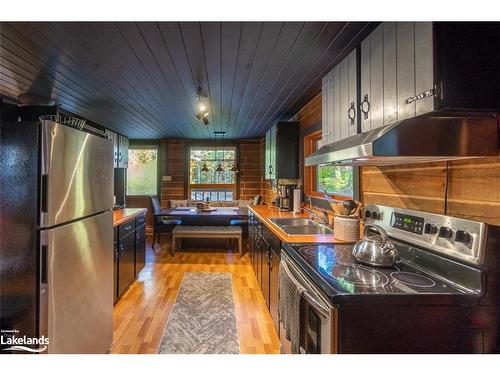
{"type": "Polygon", "coordinates": [[[432,22],[384,22],[361,42],[363,132],[434,110],[432,22]]]}

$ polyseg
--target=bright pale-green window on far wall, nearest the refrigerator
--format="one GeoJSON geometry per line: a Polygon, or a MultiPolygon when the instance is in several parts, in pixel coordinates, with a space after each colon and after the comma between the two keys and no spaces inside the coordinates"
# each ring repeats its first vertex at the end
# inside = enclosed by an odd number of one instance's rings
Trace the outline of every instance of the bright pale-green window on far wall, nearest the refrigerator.
{"type": "Polygon", "coordinates": [[[128,150],[127,195],[158,193],[158,149],[128,150]]]}

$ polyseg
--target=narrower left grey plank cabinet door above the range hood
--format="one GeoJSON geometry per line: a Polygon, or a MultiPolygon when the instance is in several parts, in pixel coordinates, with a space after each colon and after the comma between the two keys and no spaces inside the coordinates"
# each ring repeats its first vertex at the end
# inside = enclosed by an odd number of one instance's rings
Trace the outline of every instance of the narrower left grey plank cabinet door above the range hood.
{"type": "Polygon", "coordinates": [[[324,78],[322,90],[322,144],[357,133],[358,74],[356,49],[324,78]]]}

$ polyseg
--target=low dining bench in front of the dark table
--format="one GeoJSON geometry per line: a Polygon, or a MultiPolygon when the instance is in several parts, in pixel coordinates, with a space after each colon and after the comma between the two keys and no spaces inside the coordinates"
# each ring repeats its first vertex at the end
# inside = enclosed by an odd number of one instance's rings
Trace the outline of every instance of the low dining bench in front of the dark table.
{"type": "Polygon", "coordinates": [[[239,226],[177,226],[172,230],[172,255],[177,250],[177,241],[183,238],[225,238],[238,240],[240,256],[242,251],[242,229],[239,226]]]}

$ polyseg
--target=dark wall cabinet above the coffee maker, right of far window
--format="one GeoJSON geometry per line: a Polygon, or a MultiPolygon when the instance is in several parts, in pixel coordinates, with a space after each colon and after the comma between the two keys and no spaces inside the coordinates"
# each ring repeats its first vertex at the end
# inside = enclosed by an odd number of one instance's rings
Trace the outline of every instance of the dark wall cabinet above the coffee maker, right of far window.
{"type": "Polygon", "coordinates": [[[299,178],[299,135],[297,122],[278,122],[266,133],[266,179],[299,178]]]}

